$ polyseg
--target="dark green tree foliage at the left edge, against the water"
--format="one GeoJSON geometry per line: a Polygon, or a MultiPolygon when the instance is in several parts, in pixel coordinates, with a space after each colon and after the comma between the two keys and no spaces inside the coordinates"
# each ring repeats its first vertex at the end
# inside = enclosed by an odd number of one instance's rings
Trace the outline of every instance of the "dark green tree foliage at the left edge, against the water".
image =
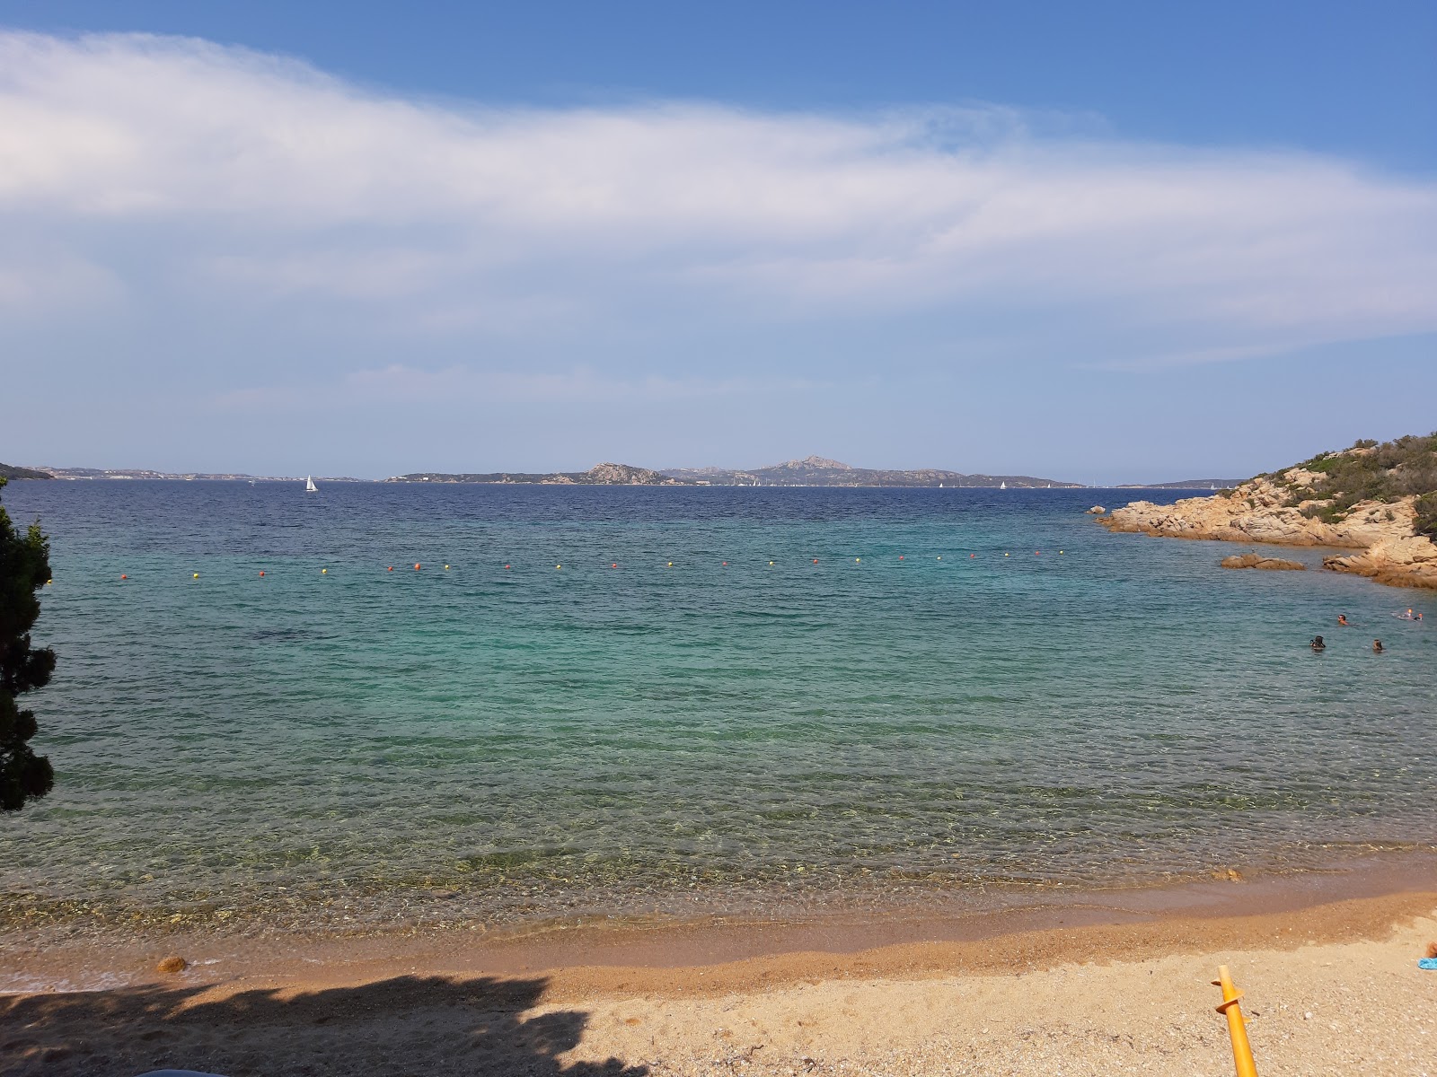
{"type": "MultiPolygon", "coordinates": [[[[6,480],[0,477],[0,487],[6,480]]],[[[55,784],[50,761],[30,748],[34,711],[19,696],[43,688],[55,672],[55,652],[30,646],[40,616],[40,587],[50,579],[50,546],[39,524],[22,534],[0,507],[0,811],[19,811],[55,784]]]]}

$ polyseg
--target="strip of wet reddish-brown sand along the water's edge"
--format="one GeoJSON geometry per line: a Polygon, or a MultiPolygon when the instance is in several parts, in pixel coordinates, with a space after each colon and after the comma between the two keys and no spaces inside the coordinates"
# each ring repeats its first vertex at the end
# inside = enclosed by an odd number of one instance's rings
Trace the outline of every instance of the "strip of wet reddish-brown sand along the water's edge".
{"type": "MultiPolygon", "coordinates": [[[[305,969],[309,978],[375,978],[421,968],[428,974],[487,976],[622,968],[639,981],[678,976],[683,969],[697,979],[706,968],[757,962],[779,982],[809,975],[806,969],[815,962],[826,966],[856,961],[871,972],[890,965],[908,972],[944,968],[957,952],[1000,954],[1007,942],[1032,935],[1066,938],[1089,932],[1145,941],[1142,945],[1157,952],[1164,938],[1216,941],[1223,931],[1256,942],[1266,938],[1269,922],[1308,916],[1316,909],[1362,906],[1367,912],[1354,923],[1367,925],[1365,931],[1372,915],[1381,919],[1437,908],[1437,850],[1364,854],[1252,879],[1213,875],[1197,882],[1109,889],[990,887],[980,895],[983,900],[974,900],[976,895],[958,900],[933,895],[927,900],[910,898],[821,912],[780,906],[769,913],[552,918],[502,929],[407,926],[267,935],[184,928],[82,935],[63,925],[14,929],[0,932],[0,995],[285,981],[293,976],[296,961],[310,966],[305,969]],[[928,948],[931,958],[924,958],[928,948]],[[898,952],[902,956],[897,964],[861,959],[898,952]],[[184,956],[190,968],[178,976],[155,972],[155,964],[167,955],[184,956]],[[802,955],[809,956],[800,961],[802,955]],[[648,974],[639,975],[644,969],[648,974]]],[[[1323,925],[1321,938],[1346,938],[1339,922],[1318,919],[1323,925]]],[[[993,968],[1002,968],[1002,962],[993,968]]]]}

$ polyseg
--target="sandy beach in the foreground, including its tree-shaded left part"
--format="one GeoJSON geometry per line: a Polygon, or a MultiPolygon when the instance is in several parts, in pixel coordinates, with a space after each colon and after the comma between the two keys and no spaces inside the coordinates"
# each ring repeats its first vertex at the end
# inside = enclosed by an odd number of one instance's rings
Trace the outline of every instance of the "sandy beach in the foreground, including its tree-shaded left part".
{"type": "Polygon", "coordinates": [[[299,948],[3,997],[0,1071],[1216,1077],[1227,964],[1262,1074],[1437,1077],[1431,941],[1437,893],[688,966],[479,974],[454,936],[355,962],[299,948]]]}

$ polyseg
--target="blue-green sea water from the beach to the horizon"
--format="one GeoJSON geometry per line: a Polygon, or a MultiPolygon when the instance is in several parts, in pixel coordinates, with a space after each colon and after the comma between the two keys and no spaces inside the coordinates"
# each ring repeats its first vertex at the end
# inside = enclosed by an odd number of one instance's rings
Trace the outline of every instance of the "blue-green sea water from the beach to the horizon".
{"type": "Polygon", "coordinates": [[[6,909],[382,926],[1431,846],[1437,596],[1221,570],[1095,497],[11,484],[57,784],[0,820],[6,909]]]}

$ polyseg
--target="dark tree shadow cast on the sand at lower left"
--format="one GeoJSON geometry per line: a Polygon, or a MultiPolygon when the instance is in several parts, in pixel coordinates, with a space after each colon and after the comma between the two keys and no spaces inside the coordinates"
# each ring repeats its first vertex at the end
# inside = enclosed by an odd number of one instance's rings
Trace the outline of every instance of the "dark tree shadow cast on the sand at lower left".
{"type": "Polygon", "coordinates": [[[280,1074],[642,1077],[616,1058],[565,1066],[588,1015],[525,1018],[546,979],[399,976],[305,994],[135,987],[0,997],[0,1073],[122,1077],[177,1067],[280,1074]]]}

